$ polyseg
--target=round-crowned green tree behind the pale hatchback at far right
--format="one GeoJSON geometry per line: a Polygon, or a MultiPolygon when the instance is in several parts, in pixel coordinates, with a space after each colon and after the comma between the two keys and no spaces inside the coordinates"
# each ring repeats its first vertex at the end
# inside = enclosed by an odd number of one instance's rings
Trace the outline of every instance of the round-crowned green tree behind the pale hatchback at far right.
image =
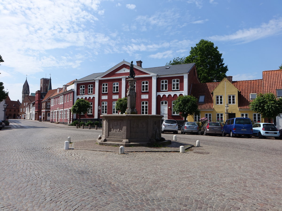
{"type": "Polygon", "coordinates": [[[282,98],[277,98],[273,93],[257,94],[250,102],[250,109],[270,121],[270,118],[280,116],[282,113],[282,98]]]}

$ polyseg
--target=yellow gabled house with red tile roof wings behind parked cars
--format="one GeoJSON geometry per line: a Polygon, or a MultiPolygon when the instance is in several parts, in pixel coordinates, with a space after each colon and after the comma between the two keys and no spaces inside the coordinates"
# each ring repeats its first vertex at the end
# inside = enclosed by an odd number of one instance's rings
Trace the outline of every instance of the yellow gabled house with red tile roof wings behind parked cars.
{"type": "Polygon", "coordinates": [[[232,76],[228,76],[221,82],[193,84],[190,94],[198,99],[201,114],[188,116],[187,120],[198,122],[205,117],[224,123],[229,118],[248,117],[254,122],[262,122],[261,115],[249,109],[258,93],[263,93],[262,79],[232,81],[232,76]]]}

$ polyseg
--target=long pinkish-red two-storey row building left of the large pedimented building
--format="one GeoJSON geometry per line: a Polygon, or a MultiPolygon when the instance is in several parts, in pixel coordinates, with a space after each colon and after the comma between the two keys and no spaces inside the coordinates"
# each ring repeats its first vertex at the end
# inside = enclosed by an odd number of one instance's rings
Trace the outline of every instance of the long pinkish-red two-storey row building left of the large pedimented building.
{"type": "Polygon", "coordinates": [[[72,122],[70,109],[73,105],[74,81],[76,79],[56,89],[55,93],[50,96],[50,122],[61,124],[72,122]]]}

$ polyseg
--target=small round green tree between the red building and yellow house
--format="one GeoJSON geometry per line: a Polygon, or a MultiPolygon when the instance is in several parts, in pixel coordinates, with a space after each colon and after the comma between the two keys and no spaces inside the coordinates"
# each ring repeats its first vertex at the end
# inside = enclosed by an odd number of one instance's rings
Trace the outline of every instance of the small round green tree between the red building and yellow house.
{"type": "Polygon", "coordinates": [[[187,116],[200,114],[197,103],[197,98],[192,95],[180,95],[174,101],[173,111],[180,113],[180,116],[184,117],[184,120],[187,121],[187,116]]]}

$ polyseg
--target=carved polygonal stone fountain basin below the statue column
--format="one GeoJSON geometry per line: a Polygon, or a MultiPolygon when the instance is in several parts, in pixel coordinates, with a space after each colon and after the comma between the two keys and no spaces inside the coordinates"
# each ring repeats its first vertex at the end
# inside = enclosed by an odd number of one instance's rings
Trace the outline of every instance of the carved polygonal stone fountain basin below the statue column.
{"type": "Polygon", "coordinates": [[[148,146],[159,142],[171,143],[161,138],[161,115],[101,115],[103,134],[99,145],[148,146]]]}

